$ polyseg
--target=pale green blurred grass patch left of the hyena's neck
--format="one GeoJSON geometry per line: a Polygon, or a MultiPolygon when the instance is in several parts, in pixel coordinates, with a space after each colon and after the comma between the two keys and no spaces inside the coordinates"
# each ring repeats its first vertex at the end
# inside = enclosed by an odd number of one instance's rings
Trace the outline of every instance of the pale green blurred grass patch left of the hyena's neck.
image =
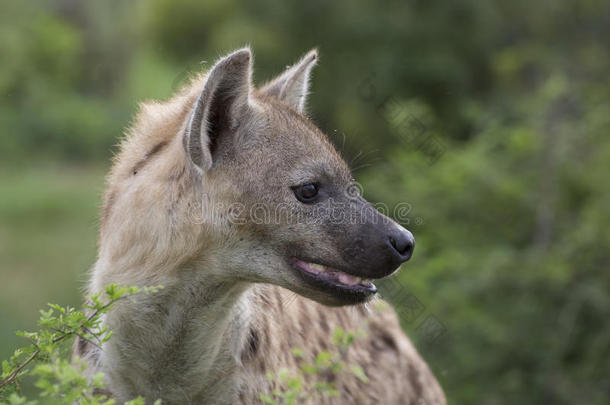
{"type": "Polygon", "coordinates": [[[48,302],[80,306],[95,261],[105,169],[0,170],[0,358],[24,343],[48,302]]]}

